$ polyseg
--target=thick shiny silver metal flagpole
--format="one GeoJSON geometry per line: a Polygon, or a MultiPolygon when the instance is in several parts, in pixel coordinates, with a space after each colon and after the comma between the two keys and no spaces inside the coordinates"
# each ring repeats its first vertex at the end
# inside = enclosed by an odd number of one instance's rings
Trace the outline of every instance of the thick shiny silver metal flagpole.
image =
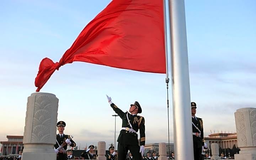
{"type": "Polygon", "coordinates": [[[190,80],[184,0],[169,0],[175,159],[193,159],[190,80]]]}

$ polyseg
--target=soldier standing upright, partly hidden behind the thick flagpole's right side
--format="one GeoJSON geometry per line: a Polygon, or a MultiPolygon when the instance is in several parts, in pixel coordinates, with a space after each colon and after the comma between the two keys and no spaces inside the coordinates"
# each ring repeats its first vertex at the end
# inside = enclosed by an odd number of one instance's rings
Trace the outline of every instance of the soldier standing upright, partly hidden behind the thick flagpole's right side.
{"type": "Polygon", "coordinates": [[[191,102],[194,160],[200,160],[204,146],[203,120],[202,118],[196,117],[196,108],[196,103],[191,102]]]}

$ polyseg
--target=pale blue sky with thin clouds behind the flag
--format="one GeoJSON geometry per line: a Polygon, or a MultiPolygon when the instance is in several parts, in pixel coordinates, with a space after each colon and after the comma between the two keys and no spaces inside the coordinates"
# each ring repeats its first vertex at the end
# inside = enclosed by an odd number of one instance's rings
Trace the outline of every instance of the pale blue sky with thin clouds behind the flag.
{"type": "MultiPolygon", "coordinates": [[[[1,2],[1,141],[6,135],[23,135],[27,97],[36,90],[34,78],[41,60],[58,62],[109,2],[1,2]]],[[[197,103],[197,116],[204,119],[206,136],[210,130],[234,132],[236,109],[256,107],[256,1],[185,0],[185,7],[191,101],[197,103]]],[[[67,123],[65,133],[73,135],[81,148],[114,141],[114,112],[106,94],[123,111],[140,102],[146,143],[168,141],[164,74],[75,62],[55,71],[41,92],[59,98],[58,120],[67,123]]],[[[117,118],[117,135],[120,127],[117,118]]],[[[172,106],[170,135],[173,142],[172,106]]]]}

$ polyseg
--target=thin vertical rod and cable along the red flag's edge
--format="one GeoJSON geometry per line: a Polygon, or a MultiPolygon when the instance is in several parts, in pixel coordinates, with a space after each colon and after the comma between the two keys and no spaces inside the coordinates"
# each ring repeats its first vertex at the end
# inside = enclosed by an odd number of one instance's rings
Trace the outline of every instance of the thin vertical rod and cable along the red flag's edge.
{"type": "MultiPolygon", "coordinates": [[[[170,148],[170,125],[169,125],[169,73],[168,73],[168,48],[167,48],[167,23],[166,23],[166,0],[163,0],[163,6],[164,6],[164,37],[165,37],[165,64],[166,64],[166,89],[167,89],[167,119],[168,119],[168,148],[170,148]]],[[[168,151],[168,156],[170,157],[170,152],[168,151]]]]}

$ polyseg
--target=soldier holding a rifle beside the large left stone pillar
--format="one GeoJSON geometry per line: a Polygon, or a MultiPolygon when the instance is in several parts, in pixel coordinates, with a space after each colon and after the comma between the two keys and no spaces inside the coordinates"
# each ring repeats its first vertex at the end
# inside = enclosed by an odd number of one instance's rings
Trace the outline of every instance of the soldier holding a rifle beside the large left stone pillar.
{"type": "Polygon", "coordinates": [[[57,153],[57,160],[66,160],[66,149],[69,146],[75,147],[75,142],[70,139],[70,135],[64,134],[66,123],[64,121],[59,121],[57,123],[59,134],[56,135],[56,144],[54,145],[55,153],[57,153]],[[57,150],[57,148],[62,145],[63,143],[66,143],[60,150],[57,150]]]}

